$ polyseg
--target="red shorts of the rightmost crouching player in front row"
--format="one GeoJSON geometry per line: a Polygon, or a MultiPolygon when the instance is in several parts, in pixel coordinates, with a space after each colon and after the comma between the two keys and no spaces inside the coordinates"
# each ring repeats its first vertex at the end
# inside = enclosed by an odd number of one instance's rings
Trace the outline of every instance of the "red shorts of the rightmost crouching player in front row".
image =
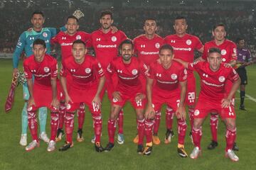
{"type": "Polygon", "coordinates": [[[193,118],[206,118],[209,113],[218,113],[222,119],[235,118],[235,108],[230,105],[228,108],[221,108],[221,101],[209,101],[199,98],[193,113],[193,118]]]}

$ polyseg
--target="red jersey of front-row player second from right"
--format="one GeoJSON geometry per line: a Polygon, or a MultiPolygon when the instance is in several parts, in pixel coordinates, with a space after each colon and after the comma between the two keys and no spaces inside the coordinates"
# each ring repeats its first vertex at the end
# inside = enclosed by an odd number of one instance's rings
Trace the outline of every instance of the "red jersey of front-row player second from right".
{"type": "Polygon", "coordinates": [[[149,78],[156,79],[156,84],[154,88],[157,91],[168,91],[168,92],[178,92],[180,93],[179,82],[186,81],[187,72],[182,64],[172,61],[171,67],[169,69],[164,69],[164,67],[158,62],[151,63],[149,67],[149,78]]]}

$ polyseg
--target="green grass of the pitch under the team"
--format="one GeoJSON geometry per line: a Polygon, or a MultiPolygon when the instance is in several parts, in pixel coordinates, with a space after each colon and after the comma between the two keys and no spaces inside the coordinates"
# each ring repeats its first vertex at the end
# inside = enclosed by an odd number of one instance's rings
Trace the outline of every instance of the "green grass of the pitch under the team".
{"type": "MultiPolygon", "coordinates": [[[[21,65],[21,63],[20,63],[21,65]]],[[[253,98],[256,98],[256,67],[247,68],[249,84],[246,92],[253,98]]],[[[112,152],[97,153],[94,145],[90,143],[92,132],[92,118],[86,110],[85,125],[83,128],[85,142],[78,143],[67,152],[48,153],[46,143],[41,142],[39,148],[31,152],[25,152],[18,142],[21,134],[21,110],[23,108],[22,88],[16,89],[14,108],[9,113],[4,113],[4,103],[11,84],[12,64],[11,60],[0,60],[0,169],[255,169],[255,139],[256,139],[256,103],[245,99],[247,111],[236,110],[238,137],[237,142],[240,151],[237,152],[240,161],[230,162],[224,157],[225,149],[225,127],[220,122],[218,131],[219,146],[217,149],[209,151],[206,149],[210,142],[209,120],[203,125],[202,149],[203,155],[196,160],[187,158],[182,159],[176,154],[177,132],[170,145],[164,145],[165,116],[162,115],[159,137],[162,140],[161,145],[154,146],[151,156],[141,156],[137,154],[137,145],[132,142],[136,134],[135,114],[130,104],[124,107],[124,145],[116,144],[112,152]]],[[[239,98],[239,94],[237,95],[239,98]]],[[[237,107],[238,108],[237,100],[237,107]]],[[[163,110],[164,111],[164,110],[163,110]]],[[[102,116],[103,116],[103,134],[102,145],[107,144],[107,119],[110,113],[110,103],[104,98],[102,116]]],[[[50,116],[48,116],[47,132],[50,135],[50,116]]],[[[174,121],[176,122],[176,121],[174,121]]],[[[174,124],[176,127],[176,123],[174,124]]],[[[75,130],[77,129],[77,123],[75,130]]],[[[187,134],[189,127],[187,130],[187,134]]],[[[75,141],[74,132],[73,140],[75,141]]],[[[28,142],[31,136],[28,133],[28,142]]],[[[57,143],[57,148],[63,145],[63,142],[57,143]]],[[[193,145],[186,136],[186,151],[191,153],[193,145]]]]}

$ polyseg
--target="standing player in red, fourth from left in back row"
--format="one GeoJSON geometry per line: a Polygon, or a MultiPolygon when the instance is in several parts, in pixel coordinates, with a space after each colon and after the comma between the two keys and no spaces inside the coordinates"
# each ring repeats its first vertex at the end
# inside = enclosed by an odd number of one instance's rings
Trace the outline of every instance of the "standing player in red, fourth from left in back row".
{"type": "MultiPolygon", "coordinates": [[[[154,18],[147,18],[143,27],[145,34],[139,35],[134,38],[134,54],[137,55],[139,60],[144,62],[146,66],[159,59],[159,47],[163,45],[164,39],[156,34],[157,25],[154,18]]],[[[146,79],[141,76],[142,87],[146,88],[146,79]]],[[[139,136],[134,138],[134,143],[139,141],[139,136]]],[[[153,143],[160,144],[157,136],[153,136],[153,143]]]]}

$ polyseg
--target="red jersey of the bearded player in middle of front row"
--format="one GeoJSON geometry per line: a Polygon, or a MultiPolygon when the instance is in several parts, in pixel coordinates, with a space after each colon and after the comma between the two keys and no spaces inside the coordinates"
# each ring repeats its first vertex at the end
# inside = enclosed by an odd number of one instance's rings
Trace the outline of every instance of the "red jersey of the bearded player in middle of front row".
{"type": "Polygon", "coordinates": [[[117,73],[117,89],[129,91],[130,93],[142,91],[142,83],[139,80],[139,74],[148,74],[149,70],[146,64],[140,62],[137,57],[132,57],[129,64],[124,64],[122,57],[117,57],[110,62],[107,67],[110,74],[117,73]]]}

